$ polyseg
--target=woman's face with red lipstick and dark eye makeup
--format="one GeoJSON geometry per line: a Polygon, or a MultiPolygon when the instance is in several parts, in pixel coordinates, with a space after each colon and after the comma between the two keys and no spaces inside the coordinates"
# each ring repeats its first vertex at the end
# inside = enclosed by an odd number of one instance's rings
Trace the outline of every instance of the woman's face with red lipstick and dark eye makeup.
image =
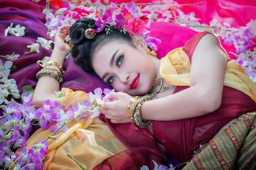
{"type": "Polygon", "coordinates": [[[145,45],[133,48],[122,42],[108,42],[101,46],[92,57],[96,74],[116,91],[131,96],[147,94],[153,88],[156,68],[145,45]]]}

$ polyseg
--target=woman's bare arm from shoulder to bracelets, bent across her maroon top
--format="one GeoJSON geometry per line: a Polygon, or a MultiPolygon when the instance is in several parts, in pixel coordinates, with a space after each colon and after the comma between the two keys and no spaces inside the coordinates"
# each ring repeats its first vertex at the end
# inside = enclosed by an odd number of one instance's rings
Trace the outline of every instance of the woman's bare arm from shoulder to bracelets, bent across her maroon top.
{"type": "Polygon", "coordinates": [[[172,121],[201,116],[221,105],[227,57],[216,38],[206,34],[192,57],[190,88],[177,94],[145,102],[141,118],[172,121]]]}

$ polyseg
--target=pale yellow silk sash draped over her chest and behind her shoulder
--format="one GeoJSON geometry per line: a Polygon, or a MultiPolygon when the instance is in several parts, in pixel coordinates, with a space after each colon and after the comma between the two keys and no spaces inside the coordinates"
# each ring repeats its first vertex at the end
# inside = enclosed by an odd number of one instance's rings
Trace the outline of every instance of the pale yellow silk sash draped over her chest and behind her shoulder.
{"type": "MultiPolygon", "coordinates": [[[[171,85],[189,86],[190,69],[189,57],[182,47],[170,51],[161,59],[160,75],[171,85]]],[[[244,92],[256,102],[256,85],[233,60],[227,62],[224,85],[244,92]]]]}

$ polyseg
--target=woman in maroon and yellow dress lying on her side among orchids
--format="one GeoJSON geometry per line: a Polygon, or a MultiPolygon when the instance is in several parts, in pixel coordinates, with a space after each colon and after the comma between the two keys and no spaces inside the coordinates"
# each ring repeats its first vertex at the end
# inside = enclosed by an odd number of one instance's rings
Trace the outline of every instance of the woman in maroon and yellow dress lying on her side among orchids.
{"type": "MultiPolygon", "coordinates": [[[[57,74],[71,50],[84,71],[123,93],[97,98],[105,115],[71,122],[49,141],[46,169],[80,169],[69,153],[87,170],[135,170],[152,167],[152,160],[164,164],[167,152],[187,162],[188,170],[256,168],[256,85],[214,35],[198,33],[159,60],[153,51],[158,40],[148,37],[139,18],[109,27],[95,16],[58,29],[54,62],[44,70],[57,74]]],[[[32,104],[42,107],[60,84],[51,75],[38,79],[32,104]]],[[[67,110],[89,99],[84,91],[61,92],[67,110]]],[[[37,130],[27,147],[50,134],[37,130]]]]}

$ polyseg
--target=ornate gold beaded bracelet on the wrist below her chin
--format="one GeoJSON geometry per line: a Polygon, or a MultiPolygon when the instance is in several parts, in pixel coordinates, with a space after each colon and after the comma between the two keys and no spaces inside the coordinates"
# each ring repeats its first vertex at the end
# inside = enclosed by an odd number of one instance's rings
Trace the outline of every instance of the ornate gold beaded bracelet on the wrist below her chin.
{"type": "Polygon", "coordinates": [[[142,121],[140,119],[140,108],[146,101],[149,101],[149,100],[152,100],[152,98],[150,96],[145,96],[145,97],[142,97],[141,99],[136,99],[134,102],[132,102],[130,106],[130,109],[131,109],[129,110],[130,119],[132,120],[132,122],[134,122],[134,124],[136,124],[139,127],[148,127],[152,122],[152,120],[142,121]]]}

